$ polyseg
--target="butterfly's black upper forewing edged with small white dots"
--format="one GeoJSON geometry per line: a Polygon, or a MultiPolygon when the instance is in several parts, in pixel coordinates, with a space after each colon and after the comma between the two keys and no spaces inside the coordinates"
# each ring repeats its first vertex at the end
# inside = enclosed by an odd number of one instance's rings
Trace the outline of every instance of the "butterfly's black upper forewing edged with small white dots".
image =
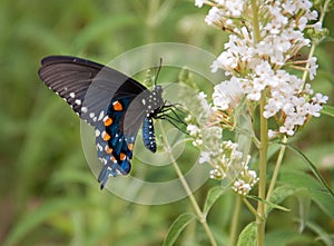
{"type": "Polygon", "coordinates": [[[77,57],[47,57],[42,59],[38,75],[91,126],[96,126],[106,115],[110,99],[125,83],[132,88],[131,94],[146,90],[143,85],[117,70],[77,57]]]}

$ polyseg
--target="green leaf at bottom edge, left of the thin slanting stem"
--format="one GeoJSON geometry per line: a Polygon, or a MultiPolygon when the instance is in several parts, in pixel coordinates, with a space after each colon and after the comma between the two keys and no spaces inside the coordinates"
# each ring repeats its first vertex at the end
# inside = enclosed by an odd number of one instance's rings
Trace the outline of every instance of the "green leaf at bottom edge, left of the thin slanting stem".
{"type": "Polygon", "coordinates": [[[179,234],[184,230],[184,228],[194,219],[196,216],[194,214],[181,214],[180,216],[177,217],[177,219],[170,226],[163,246],[171,246],[178,238],[179,234]]]}

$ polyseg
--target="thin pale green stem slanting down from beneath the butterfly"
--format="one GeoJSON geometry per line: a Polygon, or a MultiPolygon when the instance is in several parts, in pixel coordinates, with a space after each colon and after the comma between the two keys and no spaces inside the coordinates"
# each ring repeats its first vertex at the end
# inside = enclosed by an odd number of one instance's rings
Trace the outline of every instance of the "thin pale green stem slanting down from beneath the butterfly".
{"type": "Polygon", "coordinates": [[[181,170],[179,169],[179,167],[178,167],[178,165],[177,165],[177,163],[176,163],[176,159],[175,159],[175,157],[174,157],[174,155],[173,155],[171,148],[170,148],[170,146],[169,146],[169,144],[168,144],[168,140],[167,140],[167,138],[166,138],[167,135],[166,135],[166,132],[165,132],[165,130],[164,130],[164,128],[163,128],[163,126],[161,126],[161,122],[158,121],[158,124],[159,124],[159,127],[160,127],[160,130],[161,130],[161,135],[163,135],[163,140],[164,140],[165,151],[166,151],[167,154],[169,154],[168,156],[170,157],[170,161],[171,161],[171,164],[173,164],[173,167],[174,167],[174,169],[175,169],[175,171],[176,171],[176,174],[177,174],[177,176],[178,176],[178,178],[179,178],[179,180],[180,180],[180,183],[181,183],[184,189],[186,190],[186,193],[187,193],[187,195],[188,195],[188,198],[189,198],[190,204],[191,204],[191,206],[193,206],[193,208],[194,208],[194,210],[195,210],[195,214],[196,214],[196,216],[197,216],[197,219],[198,219],[199,223],[202,224],[202,226],[203,226],[203,228],[204,228],[204,230],[205,230],[207,237],[209,238],[210,245],[212,245],[212,246],[217,246],[217,243],[216,243],[216,240],[215,240],[215,238],[214,238],[214,235],[213,235],[213,233],[212,233],[212,230],[210,230],[210,228],[209,228],[209,226],[208,226],[208,224],[207,224],[207,222],[206,222],[206,216],[205,216],[205,215],[203,214],[203,211],[200,210],[200,208],[199,208],[199,206],[198,206],[198,204],[197,204],[197,201],[196,201],[196,199],[195,199],[195,196],[194,196],[193,193],[191,193],[191,189],[190,189],[190,187],[189,187],[187,180],[185,179],[185,177],[184,177],[181,170]]]}

